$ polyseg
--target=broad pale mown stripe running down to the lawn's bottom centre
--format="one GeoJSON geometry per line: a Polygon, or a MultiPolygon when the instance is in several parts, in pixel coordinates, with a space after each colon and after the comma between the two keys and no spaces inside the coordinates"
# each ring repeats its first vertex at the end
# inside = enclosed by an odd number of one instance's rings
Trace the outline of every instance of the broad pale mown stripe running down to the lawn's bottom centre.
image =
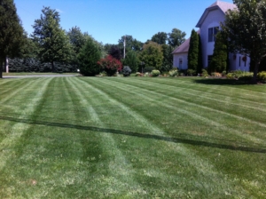
{"type": "MultiPolygon", "coordinates": [[[[73,85],[75,88],[74,95],[80,99],[79,105],[87,110],[88,115],[86,120],[90,121],[88,124],[93,123],[94,126],[97,126],[100,129],[106,129],[106,132],[96,131],[93,133],[98,137],[98,145],[101,147],[100,151],[102,151],[102,154],[95,154],[95,156],[89,158],[107,160],[106,163],[104,163],[104,166],[98,163],[98,167],[101,168],[101,171],[98,170],[98,173],[102,173],[102,175],[97,173],[98,178],[92,180],[92,184],[98,184],[100,182],[100,187],[98,187],[98,190],[94,191],[98,192],[98,194],[100,193],[100,195],[106,196],[112,194],[130,195],[129,192],[132,190],[143,192],[137,181],[132,178],[134,169],[132,168],[130,161],[125,155],[123,155],[121,149],[117,146],[118,140],[114,138],[117,136],[113,136],[112,133],[108,132],[109,126],[106,123],[103,123],[101,115],[98,115],[98,112],[102,113],[105,109],[104,106],[98,106],[99,104],[104,105],[111,101],[111,103],[113,103],[112,106],[116,106],[116,103],[112,99],[106,98],[106,95],[103,92],[90,84],[84,84],[77,80],[79,79],[68,78],[69,84],[73,85]],[[94,94],[96,94],[98,98],[95,98],[94,94]]],[[[88,137],[89,136],[91,136],[91,133],[88,137]]],[[[122,137],[125,136],[119,137],[122,139],[122,137]]],[[[119,142],[120,141],[121,140],[119,140],[119,142]]],[[[95,173],[90,173],[90,175],[95,175],[95,173]]]]}

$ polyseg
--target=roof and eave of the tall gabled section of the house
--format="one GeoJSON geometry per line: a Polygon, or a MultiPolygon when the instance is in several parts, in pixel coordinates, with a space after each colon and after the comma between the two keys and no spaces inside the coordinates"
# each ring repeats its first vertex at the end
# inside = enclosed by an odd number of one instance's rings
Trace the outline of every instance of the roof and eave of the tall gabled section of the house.
{"type": "Polygon", "coordinates": [[[237,8],[237,6],[235,4],[231,4],[228,2],[216,1],[214,4],[211,4],[209,7],[207,7],[205,12],[203,12],[203,14],[202,14],[199,22],[197,23],[196,27],[197,28],[201,27],[201,24],[206,19],[208,12],[211,12],[214,10],[220,10],[225,14],[225,12],[227,12],[228,10],[234,10],[236,8],[237,8]]]}

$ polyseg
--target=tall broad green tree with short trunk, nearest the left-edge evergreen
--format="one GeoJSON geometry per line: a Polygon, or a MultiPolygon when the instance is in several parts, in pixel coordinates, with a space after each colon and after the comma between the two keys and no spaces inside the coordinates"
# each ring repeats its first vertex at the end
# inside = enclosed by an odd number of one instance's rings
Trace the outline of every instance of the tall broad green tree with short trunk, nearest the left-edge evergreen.
{"type": "Polygon", "coordinates": [[[59,12],[43,7],[41,19],[35,20],[32,37],[40,50],[38,56],[42,62],[50,62],[55,72],[55,61],[69,62],[73,55],[68,36],[59,25],[59,12]]]}

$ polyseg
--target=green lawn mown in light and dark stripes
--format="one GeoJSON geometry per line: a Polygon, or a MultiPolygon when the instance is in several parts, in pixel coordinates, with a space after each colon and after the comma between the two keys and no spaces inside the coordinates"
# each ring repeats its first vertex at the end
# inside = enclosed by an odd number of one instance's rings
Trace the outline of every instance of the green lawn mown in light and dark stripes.
{"type": "Polygon", "coordinates": [[[0,79],[0,198],[266,198],[266,85],[0,79]]]}

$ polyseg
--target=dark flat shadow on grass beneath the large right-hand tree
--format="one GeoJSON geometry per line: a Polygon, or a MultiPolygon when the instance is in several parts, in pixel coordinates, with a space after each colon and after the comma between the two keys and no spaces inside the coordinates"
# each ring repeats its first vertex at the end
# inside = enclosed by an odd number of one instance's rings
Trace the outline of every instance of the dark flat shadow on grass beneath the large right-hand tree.
{"type": "Polygon", "coordinates": [[[236,79],[221,79],[221,78],[202,78],[193,79],[194,83],[197,84],[213,84],[213,85],[250,85],[251,82],[239,81],[236,79]]]}

